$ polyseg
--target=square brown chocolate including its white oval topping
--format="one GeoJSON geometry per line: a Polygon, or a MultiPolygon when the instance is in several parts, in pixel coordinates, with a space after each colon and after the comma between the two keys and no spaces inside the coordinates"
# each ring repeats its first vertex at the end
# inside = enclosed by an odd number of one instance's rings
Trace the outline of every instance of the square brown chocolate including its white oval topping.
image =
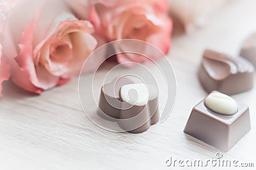
{"type": "Polygon", "coordinates": [[[248,106],[214,91],[193,108],[184,132],[227,152],[250,129],[248,106]]]}

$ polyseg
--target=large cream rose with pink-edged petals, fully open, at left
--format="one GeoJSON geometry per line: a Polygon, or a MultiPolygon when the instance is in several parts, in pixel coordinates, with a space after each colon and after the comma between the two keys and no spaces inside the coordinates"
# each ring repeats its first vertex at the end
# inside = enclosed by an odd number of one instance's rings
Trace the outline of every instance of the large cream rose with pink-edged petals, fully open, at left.
{"type": "Polygon", "coordinates": [[[97,46],[93,31],[63,0],[22,1],[8,13],[4,27],[3,53],[10,61],[11,79],[38,94],[67,83],[97,46]]]}

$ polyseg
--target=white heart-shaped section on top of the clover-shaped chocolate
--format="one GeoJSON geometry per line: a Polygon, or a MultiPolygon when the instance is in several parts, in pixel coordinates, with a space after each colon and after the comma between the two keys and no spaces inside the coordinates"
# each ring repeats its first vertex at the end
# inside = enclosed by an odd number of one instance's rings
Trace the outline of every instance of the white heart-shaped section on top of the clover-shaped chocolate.
{"type": "Polygon", "coordinates": [[[143,83],[124,85],[120,94],[124,102],[132,105],[144,106],[148,103],[148,88],[143,83]]]}

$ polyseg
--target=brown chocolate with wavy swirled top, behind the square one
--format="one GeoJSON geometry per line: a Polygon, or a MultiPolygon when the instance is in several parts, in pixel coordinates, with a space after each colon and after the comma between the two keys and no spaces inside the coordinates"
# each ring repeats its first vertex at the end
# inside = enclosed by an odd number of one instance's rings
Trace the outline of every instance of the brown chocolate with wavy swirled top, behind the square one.
{"type": "Polygon", "coordinates": [[[205,50],[198,78],[207,92],[232,95],[252,89],[253,72],[254,66],[243,57],[205,50]]]}

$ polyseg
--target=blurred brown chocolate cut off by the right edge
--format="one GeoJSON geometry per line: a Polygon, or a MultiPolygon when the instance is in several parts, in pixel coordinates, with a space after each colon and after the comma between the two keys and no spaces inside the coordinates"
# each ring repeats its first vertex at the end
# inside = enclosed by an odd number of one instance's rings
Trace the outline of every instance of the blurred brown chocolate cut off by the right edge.
{"type": "Polygon", "coordinates": [[[256,67],[256,33],[244,41],[240,55],[256,67]]]}

